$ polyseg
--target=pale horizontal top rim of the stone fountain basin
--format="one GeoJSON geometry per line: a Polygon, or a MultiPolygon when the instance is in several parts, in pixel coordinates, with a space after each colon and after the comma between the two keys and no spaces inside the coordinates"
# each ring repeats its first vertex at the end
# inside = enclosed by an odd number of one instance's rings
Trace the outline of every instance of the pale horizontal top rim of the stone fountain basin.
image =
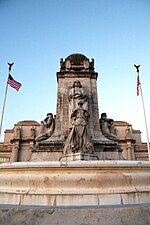
{"type": "Polygon", "coordinates": [[[93,160],[93,161],[32,161],[0,164],[0,169],[9,168],[150,168],[149,161],[93,160]]]}

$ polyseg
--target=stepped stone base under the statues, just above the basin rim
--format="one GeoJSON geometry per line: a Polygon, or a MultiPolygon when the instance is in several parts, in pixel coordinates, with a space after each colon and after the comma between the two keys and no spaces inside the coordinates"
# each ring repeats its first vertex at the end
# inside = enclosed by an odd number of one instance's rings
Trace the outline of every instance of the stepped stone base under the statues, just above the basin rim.
{"type": "Polygon", "coordinates": [[[61,140],[41,142],[34,146],[30,161],[76,161],[76,160],[123,160],[122,150],[115,142],[94,143],[94,154],[72,153],[63,155],[64,142],[61,140]]]}

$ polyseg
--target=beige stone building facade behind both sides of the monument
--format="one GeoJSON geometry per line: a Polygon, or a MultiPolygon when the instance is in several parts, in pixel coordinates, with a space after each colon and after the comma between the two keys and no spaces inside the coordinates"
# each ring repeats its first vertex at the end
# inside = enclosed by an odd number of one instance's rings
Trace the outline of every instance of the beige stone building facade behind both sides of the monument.
{"type": "MultiPolygon", "coordinates": [[[[142,143],[140,130],[134,130],[124,121],[113,121],[113,126],[125,160],[148,160],[147,144],[142,143]]],[[[13,129],[7,129],[4,142],[0,143],[0,162],[29,161],[39,133],[40,124],[30,120],[20,121],[13,129]]]]}

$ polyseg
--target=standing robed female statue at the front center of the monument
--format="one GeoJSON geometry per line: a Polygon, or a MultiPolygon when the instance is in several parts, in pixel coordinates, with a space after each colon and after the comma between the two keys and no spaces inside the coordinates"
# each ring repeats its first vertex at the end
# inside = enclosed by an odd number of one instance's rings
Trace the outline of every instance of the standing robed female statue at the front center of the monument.
{"type": "Polygon", "coordinates": [[[87,131],[89,113],[83,108],[83,102],[78,102],[78,107],[71,114],[72,128],[66,139],[63,154],[68,153],[93,153],[93,145],[87,131]]]}

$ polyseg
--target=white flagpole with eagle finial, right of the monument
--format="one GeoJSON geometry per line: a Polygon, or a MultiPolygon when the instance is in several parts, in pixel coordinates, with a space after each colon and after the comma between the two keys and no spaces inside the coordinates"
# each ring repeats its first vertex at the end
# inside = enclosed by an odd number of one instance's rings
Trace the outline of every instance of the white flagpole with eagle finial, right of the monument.
{"type": "MultiPolygon", "coordinates": [[[[136,66],[134,65],[137,69],[137,77],[139,78],[139,67],[140,65],[136,66]]],[[[143,106],[143,113],[144,113],[144,120],[145,120],[145,129],[146,129],[146,137],[147,137],[147,149],[148,149],[148,158],[150,161],[150,146],[149,146],[149,135],[148,135],[148,127],[147,127],[147,120],[146,120],[146,112],[145,112],[145,105],[144,105],[144,98],[143,98],[143,92],[142,92],[142,86],[141,86],[141,81],[139,81],[139,88],[140,88],[140,93],[141,93],[141,99],[142,99],[142,106],[143,106]]]]}

